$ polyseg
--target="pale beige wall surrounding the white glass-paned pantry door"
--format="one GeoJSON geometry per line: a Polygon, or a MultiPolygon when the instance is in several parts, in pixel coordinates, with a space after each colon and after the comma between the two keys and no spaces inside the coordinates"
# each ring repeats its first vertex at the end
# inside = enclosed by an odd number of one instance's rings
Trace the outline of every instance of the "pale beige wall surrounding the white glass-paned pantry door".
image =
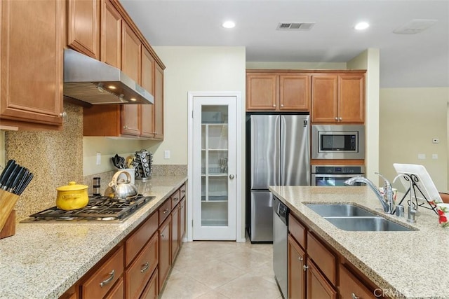
{"type": "MultiPolygon", "coordinates": [[[[156,164],[187,165],[187,92],[241,92],[241,119],[245,117],[246,49],[244,47],[154,47],[166,65],[164,71],[164,140],[149,149],[156,164]],[[163,158],[170,151],[170,160],[163,158]]],[[[244,124],[244,122],[243,122],[244,124]]],[[[245,153],[245,128],[242,127],[241,155],[245,153]]],[[[243,178],[245,167],[237,177],[243,178]]],[[[245,181],[242,180],[241,235],[245,235],[245,181]]],[[[191,207],[189,207],[190,209],[191,207]]]]}

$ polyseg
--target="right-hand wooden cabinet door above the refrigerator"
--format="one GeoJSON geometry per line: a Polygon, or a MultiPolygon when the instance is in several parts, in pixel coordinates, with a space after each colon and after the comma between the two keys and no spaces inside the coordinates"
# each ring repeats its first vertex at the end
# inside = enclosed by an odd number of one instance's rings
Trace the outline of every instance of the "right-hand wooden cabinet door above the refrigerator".
{"type": "Polygon", "coordinates": [[[310,76],[279,76],[279,110],[309,111],[310,108],[310,76]]]}

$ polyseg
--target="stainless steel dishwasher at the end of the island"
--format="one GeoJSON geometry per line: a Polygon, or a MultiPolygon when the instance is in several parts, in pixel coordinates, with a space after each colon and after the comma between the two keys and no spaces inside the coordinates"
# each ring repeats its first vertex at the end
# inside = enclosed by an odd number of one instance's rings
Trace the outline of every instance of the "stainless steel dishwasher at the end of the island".
{"type": "Polygon", "coordinates": [[[273,270],[283,298],[287,294],[288,207],[273,197],[273,270]]]}

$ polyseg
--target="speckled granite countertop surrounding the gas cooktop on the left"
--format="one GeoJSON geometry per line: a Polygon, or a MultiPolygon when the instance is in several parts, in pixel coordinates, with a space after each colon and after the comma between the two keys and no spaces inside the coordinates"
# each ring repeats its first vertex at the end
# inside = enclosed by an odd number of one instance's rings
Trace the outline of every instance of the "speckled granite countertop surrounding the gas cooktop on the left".
{"type": "Polygon", "coordinates": [[[185,181],[136,181],[156,198],[123,223],[16,223],[15,235],[0,239],[0,298],[58,298],[185,181]]]}

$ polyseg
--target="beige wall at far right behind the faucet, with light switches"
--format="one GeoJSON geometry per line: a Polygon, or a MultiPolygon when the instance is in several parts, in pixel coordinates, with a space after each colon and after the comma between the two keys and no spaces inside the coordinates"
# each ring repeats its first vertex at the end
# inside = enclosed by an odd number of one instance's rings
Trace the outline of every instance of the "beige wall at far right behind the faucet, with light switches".
{"type": "MultiPolygon", "coordinates": [[[[436,188],[448,190],[449,88],[380,90],[380,172],[396,176],[393,163],[426,167],[436,188]],[[439,144],[432,139],[438,138],[439,144]],[[419,160],[418,154],[425,154],[419,160]],[[438,159],[432,159],[432,154],[438,159]]],[[[396,183],[396,188],[403,187],[396,183]]]]}

